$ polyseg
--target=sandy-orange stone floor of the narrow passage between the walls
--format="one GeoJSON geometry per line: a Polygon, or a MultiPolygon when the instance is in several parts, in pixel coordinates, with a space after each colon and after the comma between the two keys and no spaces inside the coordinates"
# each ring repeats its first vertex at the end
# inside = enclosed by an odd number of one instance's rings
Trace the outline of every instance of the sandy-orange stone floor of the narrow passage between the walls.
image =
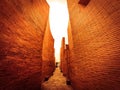
{"type": "Polygon", "coordinates": [[[56,68],[54,75],[42,84],[42,90],[73,90],[70,85],[66,85],[66,78],[59,68],[56,68]]]}

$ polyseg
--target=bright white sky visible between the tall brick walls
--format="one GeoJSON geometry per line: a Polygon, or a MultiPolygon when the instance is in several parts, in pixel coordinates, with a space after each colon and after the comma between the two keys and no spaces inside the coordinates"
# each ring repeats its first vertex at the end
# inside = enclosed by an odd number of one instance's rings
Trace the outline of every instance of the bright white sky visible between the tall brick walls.
{"type": "Polygon", "coordinates": [[[67,27],[68,27],[68,8],[67,0],[47,0],[50,6],[50,29],[55,39],[55,57],[56,61],[60,61],[60,47],[61,39],[65,37],[67,40],[67,27]]]}

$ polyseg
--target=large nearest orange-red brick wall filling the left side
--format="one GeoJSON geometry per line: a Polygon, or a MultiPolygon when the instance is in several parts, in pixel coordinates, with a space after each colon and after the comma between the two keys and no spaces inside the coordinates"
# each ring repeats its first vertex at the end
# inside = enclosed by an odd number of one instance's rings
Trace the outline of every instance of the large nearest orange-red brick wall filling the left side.
{"type": "Polygon", "coordinates": [[[0,0],[0,90],[40,89],[45,0],[0,0]]]}

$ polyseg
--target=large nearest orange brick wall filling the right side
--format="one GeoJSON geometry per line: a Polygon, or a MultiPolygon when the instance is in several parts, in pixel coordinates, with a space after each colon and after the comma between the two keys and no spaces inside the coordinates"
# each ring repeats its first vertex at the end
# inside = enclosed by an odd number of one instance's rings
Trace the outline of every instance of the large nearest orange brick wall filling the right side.
{"type": "Polygon", "coordinates": [[[120,1],[67,0],[70,79],[75,90],[120,89],[120,1]],[[69,24],[69,25],[70,25],[69,24]]]}

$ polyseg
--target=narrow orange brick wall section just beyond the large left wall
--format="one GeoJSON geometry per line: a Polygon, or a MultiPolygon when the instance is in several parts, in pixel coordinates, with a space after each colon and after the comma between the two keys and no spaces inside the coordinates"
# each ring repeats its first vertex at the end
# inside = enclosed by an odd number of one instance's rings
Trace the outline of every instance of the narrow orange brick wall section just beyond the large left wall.
{"type": "Polygon", "coordinates": [[[46,27],[43,49],[42,49],[42,75],[43,79],[49,78],[55,70],[55,57],[54,57],[54,39],[52,37],[49,21],[46,27]]]}

